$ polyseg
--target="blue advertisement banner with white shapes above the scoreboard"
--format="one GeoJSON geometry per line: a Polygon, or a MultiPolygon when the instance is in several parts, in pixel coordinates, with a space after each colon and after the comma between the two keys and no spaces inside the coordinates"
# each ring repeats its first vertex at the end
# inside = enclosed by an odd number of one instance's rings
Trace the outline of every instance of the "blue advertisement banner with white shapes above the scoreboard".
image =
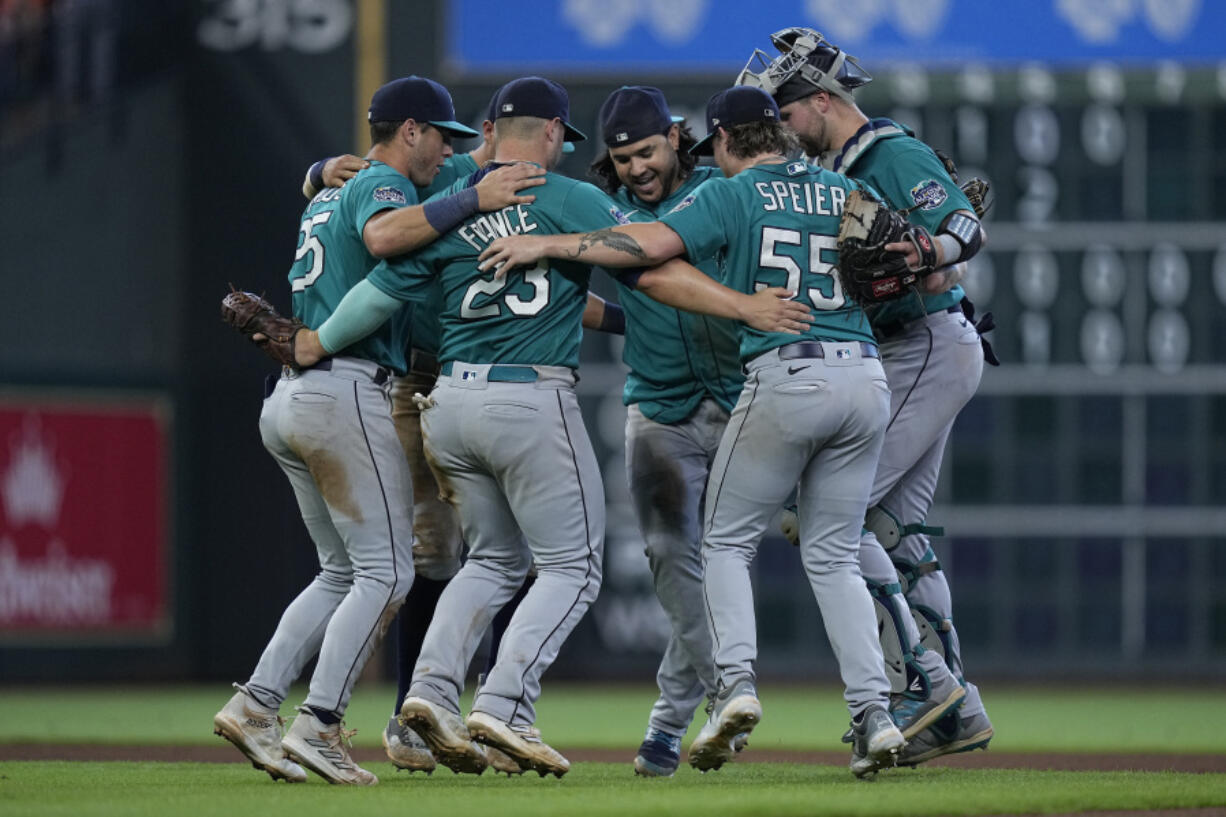
{"type": "MultiPolygon", "coordinates": [[[[1201,63],[1226,58],[1226,4],[1210,0],[452,0],[460,74],[673,72],[729,81],[790,26],[883,64],[1201,63]],[[497,20],[497,26],[490,25],[497,20]]],[[[558,79],[563,79],[559,76],[558,79]]]]}

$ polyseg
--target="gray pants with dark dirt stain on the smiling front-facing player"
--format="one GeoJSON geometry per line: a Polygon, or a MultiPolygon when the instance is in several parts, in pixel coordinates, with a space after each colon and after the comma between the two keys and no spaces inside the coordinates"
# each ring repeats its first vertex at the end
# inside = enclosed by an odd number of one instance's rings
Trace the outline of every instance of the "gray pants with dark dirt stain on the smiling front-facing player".
{"type": "Polygon", "coordinates": [[[679,423],[657,423],[631,405],[625,470],[651,577],[673,632],[649,725],[683,736],[702,698],[715,692],[711,632],[702,610],[702,501],[728,412],[715,400],[679,423]]]}

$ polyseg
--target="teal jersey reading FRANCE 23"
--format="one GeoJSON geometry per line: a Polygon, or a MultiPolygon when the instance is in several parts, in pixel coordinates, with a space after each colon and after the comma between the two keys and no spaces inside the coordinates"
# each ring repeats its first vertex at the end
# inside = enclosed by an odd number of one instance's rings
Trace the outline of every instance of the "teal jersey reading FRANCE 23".
{"type": "MultiPolygon", "coordinates": [[[[456,193],[478,177],[444,193],[456,193]]],[[[624,223],[625,217],[591,184],[557,173],[546,174],[546,183],[532,191],[532,204],[473,216],[407,256],[406,264],[371,274],[374,286],[402,301],[421,297],[430,286],[441,288],[439,362],[579,367],[591,267],[542,260],[495,280],[493,270],[477,269],[478,256],[503,236],[586,233],[624,223]]]]}

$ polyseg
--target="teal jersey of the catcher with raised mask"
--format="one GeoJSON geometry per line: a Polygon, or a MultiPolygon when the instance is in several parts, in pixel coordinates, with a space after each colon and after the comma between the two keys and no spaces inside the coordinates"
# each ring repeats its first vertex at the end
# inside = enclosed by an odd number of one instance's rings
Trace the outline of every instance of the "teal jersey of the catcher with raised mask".
{"type": "MultiPolygon", "coordinates": [[[[944,163],[915,132],[891,119],[874,119],[861,128],[835,156],[831,169],[861,179],[880,191],[891,207],[915,207],[907,218],[937,234],[958,210],[975,212],[966,195],[949,178],[944,163]]],[[[962,287],[920,298],[902,298],[873,312],[873,325],[915,320],[942,312],[962,299],[962,287]]]]}

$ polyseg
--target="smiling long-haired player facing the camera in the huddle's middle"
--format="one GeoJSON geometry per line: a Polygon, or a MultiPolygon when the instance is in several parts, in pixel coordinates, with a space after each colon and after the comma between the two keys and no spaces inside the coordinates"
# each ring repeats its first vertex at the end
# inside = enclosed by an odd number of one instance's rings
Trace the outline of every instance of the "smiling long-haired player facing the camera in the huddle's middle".
{"type": "MultiPolygon", "coordinates": [[[[658,88],[622,87],[600,113],[607,152],[592,163],[601,186],[641,220],[668,212],[714,175],[696,167],[689,128],[658,88]]],[[[698,267],[720,277],[715,259],[698,267]]],[[[661,304],[619,286],[625,309],[623,359],[625,469],[656,596],[672,624],[656,682],[660,697],[634,758],[636,774],[672,777],[694,712],[714,696],[711,635],[702,612],[701,512],[707,476],[744,375],[739,328],[661,304]]]]}

